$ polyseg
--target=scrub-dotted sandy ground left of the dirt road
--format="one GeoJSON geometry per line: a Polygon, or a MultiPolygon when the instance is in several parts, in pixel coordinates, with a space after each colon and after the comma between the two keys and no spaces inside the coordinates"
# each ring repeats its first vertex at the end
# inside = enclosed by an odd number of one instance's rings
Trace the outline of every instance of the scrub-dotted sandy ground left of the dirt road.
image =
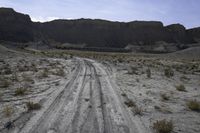
{"type": "Polygon", "coordinates": [[[39,110],[41,96],[63,84],[66,69],[71,68],[65,65],[74,66],[63,58],[41,53],[0,56],[0,129],[20,114],[39,110]]]}

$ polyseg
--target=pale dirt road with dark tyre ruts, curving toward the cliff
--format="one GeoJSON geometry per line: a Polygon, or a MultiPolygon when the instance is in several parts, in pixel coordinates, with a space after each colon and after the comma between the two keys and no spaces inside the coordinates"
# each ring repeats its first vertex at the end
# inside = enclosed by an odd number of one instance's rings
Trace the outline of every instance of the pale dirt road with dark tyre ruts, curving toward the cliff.
{"type": "Polygon", "coordinates": [[[124,104],[109,69],[94,60],[76,60],[79,63],[65,87],[56,91],[54,96],[49,96],[43,102],[43,108],[29,115],[25,124],[18,124],[9,132],[147,132],[124,104]]]}

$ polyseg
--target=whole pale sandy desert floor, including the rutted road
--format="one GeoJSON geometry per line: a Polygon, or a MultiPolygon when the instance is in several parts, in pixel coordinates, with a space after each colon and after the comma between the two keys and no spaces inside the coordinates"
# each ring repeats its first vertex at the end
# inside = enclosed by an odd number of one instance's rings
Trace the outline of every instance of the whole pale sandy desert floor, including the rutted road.
{"type": "Polygon", "coordinates": [[[167,78],[166,66],[184,62],[14,54],[0,59],[2,133],[153,133],[153,123],[161,119],[172,120],[176,133],[200,131],[199,112],[186,106],[188,100],[200,100],[198,62],[194,69],[173,69],[174,76],[167,78]],[[186,91],[176,90],[180,84],[186,91]],[[16,94],[20,87],[26,88],[25,94],[16,94]],[[29,101],[41,108],[28,111],[29,101]],[[8,121],[10,129],[4,127],[8,121]]]}

